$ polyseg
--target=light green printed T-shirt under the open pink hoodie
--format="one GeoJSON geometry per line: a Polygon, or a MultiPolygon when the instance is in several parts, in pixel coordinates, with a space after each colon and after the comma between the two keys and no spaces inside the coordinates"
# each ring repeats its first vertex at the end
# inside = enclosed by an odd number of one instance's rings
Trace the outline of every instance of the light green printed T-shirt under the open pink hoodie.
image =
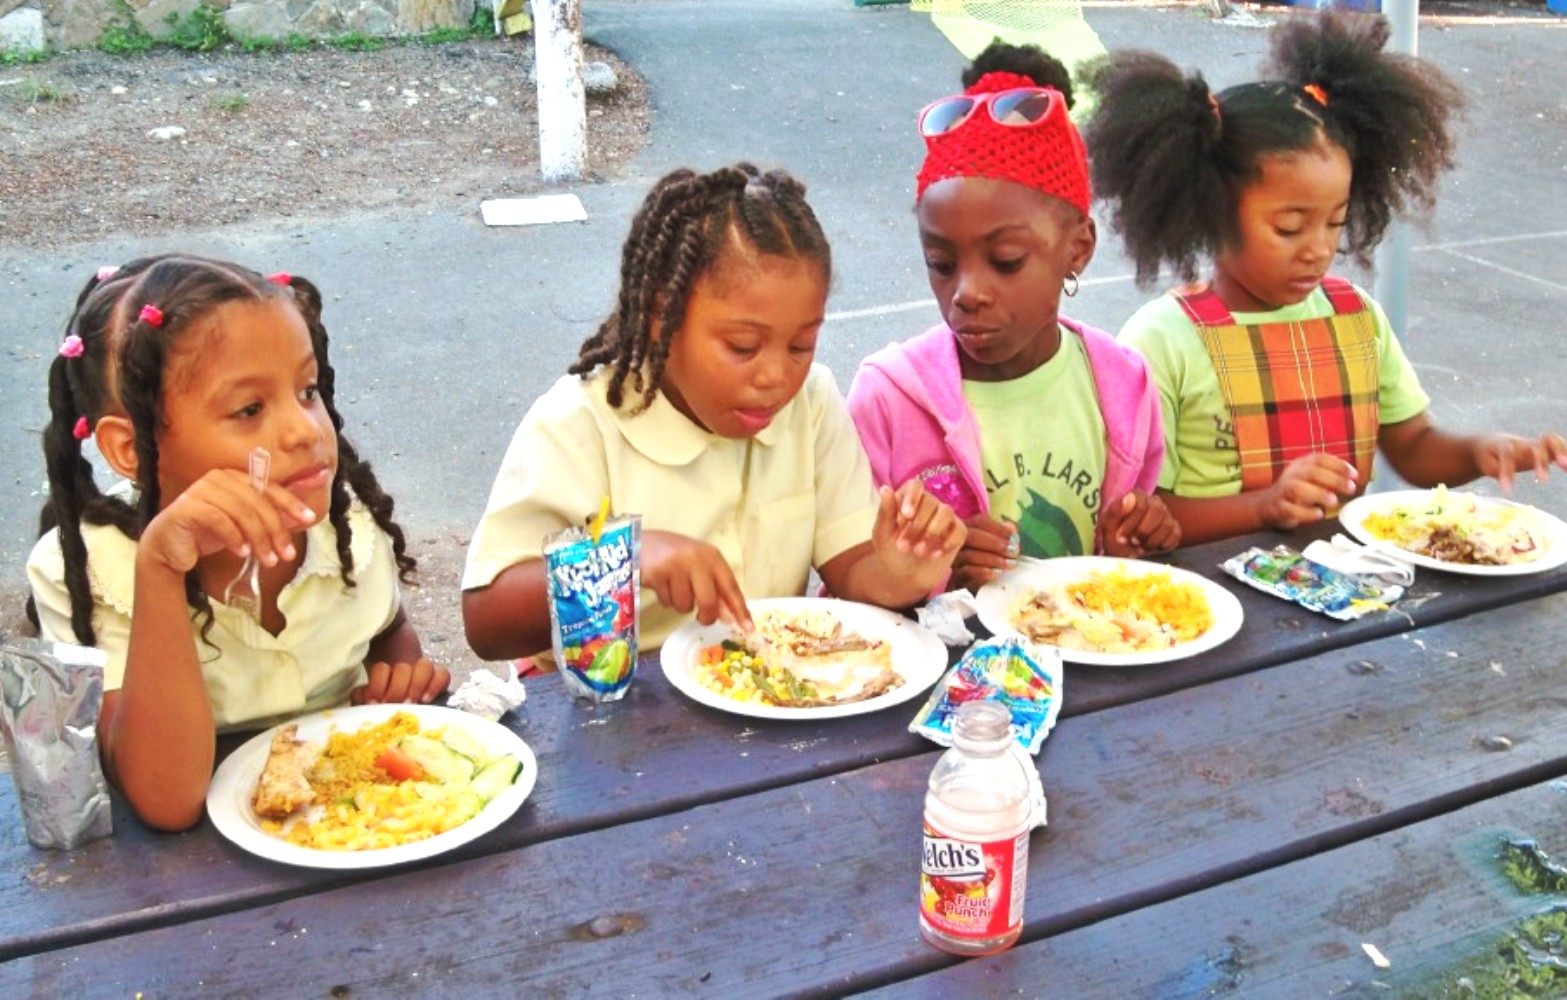
{"type": "Polygon", "coordinates": [[[1081,337],[1061,332],[1056,356],[1006,382],[964,381],[979,423],[990,516],[1017,525],[1022,553],[1094,552],[1105,483],[1105,417],[1081,337]]]}

